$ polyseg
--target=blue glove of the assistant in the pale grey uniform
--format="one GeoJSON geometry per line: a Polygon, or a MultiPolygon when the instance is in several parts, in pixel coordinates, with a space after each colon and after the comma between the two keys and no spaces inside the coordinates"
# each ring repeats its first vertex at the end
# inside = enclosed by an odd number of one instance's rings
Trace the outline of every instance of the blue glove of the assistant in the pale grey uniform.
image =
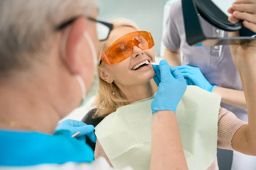
{"type": "Polygon", "coordinates": [[[212,92],[216,85],[211,85],[202,74],[200,68],[189,65],[177,66],[177,69],[183,74],[185,79],[188,79],[187,85],[196,85],[206,91],[212,92]]]}

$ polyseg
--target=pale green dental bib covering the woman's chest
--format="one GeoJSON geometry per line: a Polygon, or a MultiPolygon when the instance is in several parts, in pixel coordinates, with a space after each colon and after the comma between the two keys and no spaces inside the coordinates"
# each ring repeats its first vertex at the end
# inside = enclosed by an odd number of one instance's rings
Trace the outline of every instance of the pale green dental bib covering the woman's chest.
{"type": "MultiPolygon", "coordinates": [[[[149,170],[153,98],[122,106],[96,126],[97,139],[114,168],[149,170]]],[[[220,102],[218,94],[188,86],[177,106],[189,170],[206,170],[216,159],[220,102]]]]}

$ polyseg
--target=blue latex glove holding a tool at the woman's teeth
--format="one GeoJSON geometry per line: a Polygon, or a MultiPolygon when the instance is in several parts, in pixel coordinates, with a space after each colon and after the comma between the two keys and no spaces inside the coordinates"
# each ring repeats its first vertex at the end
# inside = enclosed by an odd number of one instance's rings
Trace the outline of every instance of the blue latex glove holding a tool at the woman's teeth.
{"type": "Polygon", "coordinates": [[[158,85],[157,94],[151,103],[152,113],[171,110],[176,112],[180,99],[186,91],[186,82],[177,68],[169,66],[166,60],[160,65],[152,65],[155,71],[154,81],[158,85]]]}

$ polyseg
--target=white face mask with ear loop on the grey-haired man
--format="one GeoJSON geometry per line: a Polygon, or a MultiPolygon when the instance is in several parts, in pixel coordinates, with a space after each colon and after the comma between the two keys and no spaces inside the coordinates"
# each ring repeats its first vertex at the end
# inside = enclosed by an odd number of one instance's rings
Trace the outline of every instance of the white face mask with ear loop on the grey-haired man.
{"type": "Polygon", "coordinates": [[[79,107],[85,105],[91,97],[95,96],[97,94],[97,91],[99,89],[99,76],[98,76],[98,68],[97,68],[97,55],[96,55],[96,49],[94,47],[93,44],[93,40],[91,39],[90,35],[87,32],[84,32],[84,37],[87,40],[92,55],[93,55],[93,61],[95,64],[95,75],[94,75],[94,80],[93,80],[93,84],[91,86],[91,88],[89,89],[88,93],[86,94],[86,88],[85,88],[85,84],[84,84],[84,80],[81,78],[80,75],[77,75],[77,80],[79,82],[79,85],[81,87],[81,91],[82,91],[82,101],[79,107]]]}

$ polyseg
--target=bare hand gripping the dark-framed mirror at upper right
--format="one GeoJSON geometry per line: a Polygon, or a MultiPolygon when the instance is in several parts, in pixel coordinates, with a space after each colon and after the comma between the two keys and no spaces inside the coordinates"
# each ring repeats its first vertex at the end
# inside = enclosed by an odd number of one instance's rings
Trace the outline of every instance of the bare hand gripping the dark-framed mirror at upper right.
{"type": "MultiPolygon", "coordinates": [[[[256,33],[256,0],[236,0],[228,9],[228,12],[231,14],[228,18],[231,23],[243,20],[243,26],[256,33]]],[[[239,31],[230,32],[229,36],[239,37],[239,31]]],[[[236,66],[242,65],[243,61],[255,63],[256,40],[242,45],[230,45],[230,49],[236,66]]]]}

